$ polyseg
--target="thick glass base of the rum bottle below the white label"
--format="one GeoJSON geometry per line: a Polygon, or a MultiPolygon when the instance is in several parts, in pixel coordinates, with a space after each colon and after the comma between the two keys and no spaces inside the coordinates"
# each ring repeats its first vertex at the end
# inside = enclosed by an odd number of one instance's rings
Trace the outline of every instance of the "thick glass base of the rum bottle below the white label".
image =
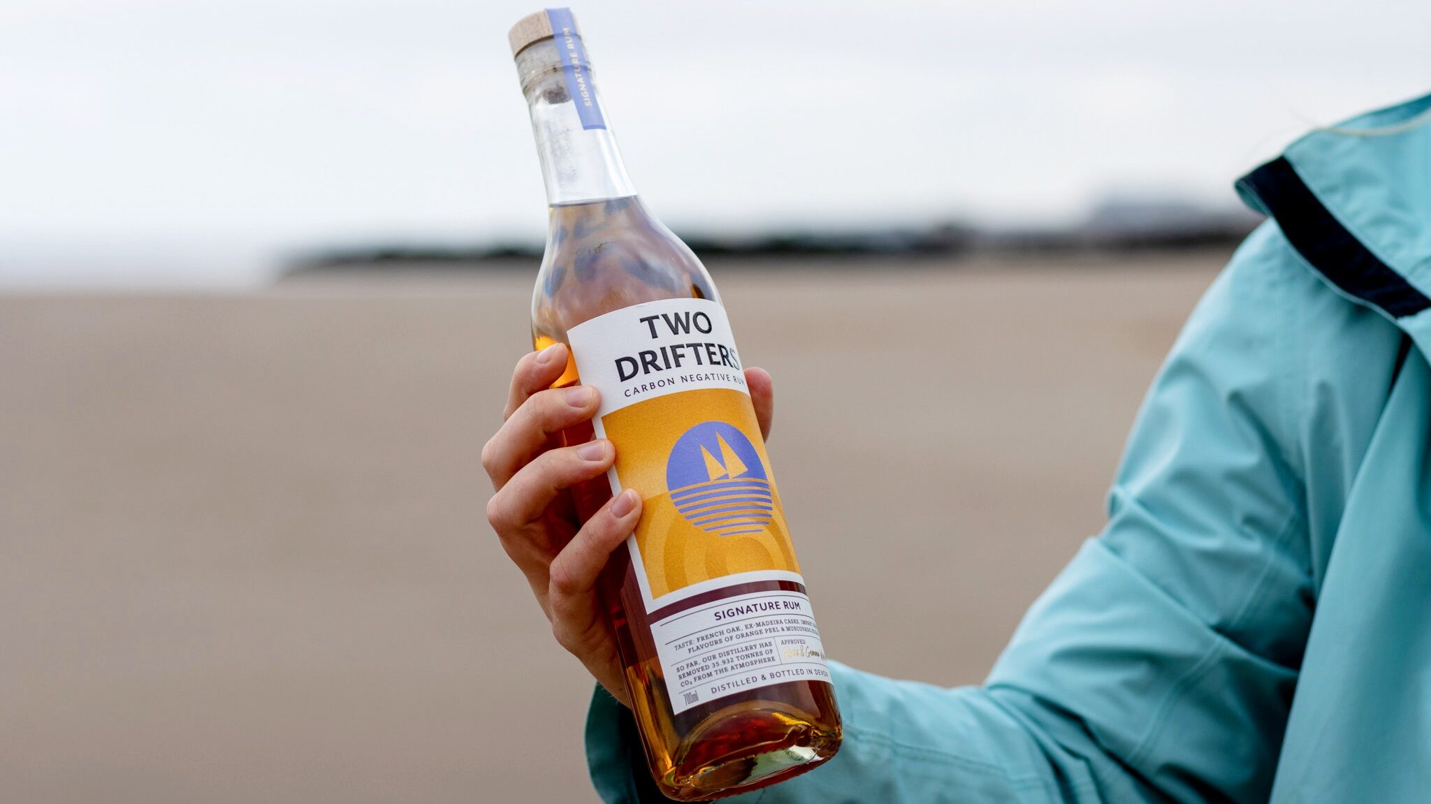
{"type": "Polygon", "coordinates": [[[820,728],[780,704],[731,707],[691,732],[691,748],[657,780],[668,798],[708,801],[810,771],[840,748],[840,728],[820,728]],[[758,741],[753,741],[758,737],[758,741]]]}

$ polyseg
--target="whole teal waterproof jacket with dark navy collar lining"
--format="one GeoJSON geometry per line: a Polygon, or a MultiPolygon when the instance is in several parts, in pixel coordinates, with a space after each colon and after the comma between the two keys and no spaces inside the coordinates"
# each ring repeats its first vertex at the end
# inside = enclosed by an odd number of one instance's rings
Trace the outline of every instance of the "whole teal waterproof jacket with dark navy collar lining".
{"type": "MultiPolygon", "coordinates": [[[[1317,130],[1238,183],[1268,220],[982,687],[833,664],[840,752],[730,801],[1431,801],[1428,117],[1317,130]]],[[[598,691],[602,798],[658,800],[640,751],[598,691]]]]}

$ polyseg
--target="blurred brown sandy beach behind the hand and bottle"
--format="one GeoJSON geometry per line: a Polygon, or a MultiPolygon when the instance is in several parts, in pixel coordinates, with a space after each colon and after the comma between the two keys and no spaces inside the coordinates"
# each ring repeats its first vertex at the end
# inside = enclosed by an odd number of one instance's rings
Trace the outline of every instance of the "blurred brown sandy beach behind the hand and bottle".
{"type": "MultiPolygon", "coordinates": [[[[833,658],[979,682],[1226,252],[710,265],[833,658]]],[[[0,788],[592,801],[484,519],[535,272],[0,298],[0,788]]]]}

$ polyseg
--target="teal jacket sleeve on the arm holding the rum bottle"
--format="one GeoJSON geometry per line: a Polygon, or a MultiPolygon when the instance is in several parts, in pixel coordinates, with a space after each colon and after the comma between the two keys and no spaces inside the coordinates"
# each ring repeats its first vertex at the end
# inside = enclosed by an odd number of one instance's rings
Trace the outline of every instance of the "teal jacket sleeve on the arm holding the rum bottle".
{"type": "MultiPolygon", "coordinates": [[[[1335,310],[1329,340],[1357,316],[1264,225],[1155,379],[1106,528],[987,682],[946,690],[836,664],[840,752],[731,801],[1265,801],[1315,599],[1302,441],[1321,428],[1331,464],[1355,441],[1308,409],[1341,393],[1309,389],[1301,369],[1301,316],[1318,306],[1335,310]]],[[[592,778],[611,803],[660,800],[628,720],[598,691],[592,778]]]]}

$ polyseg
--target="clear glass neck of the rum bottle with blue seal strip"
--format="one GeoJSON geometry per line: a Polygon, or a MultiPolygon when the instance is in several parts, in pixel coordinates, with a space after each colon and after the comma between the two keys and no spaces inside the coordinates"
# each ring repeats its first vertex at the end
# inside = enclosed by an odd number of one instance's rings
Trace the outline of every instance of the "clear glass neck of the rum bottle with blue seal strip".
{"type": "Polygon", "coordinates": [[[517,54],[551,206],[635,195],[607,129],[581,37],[557,31],[517,54]]]}

